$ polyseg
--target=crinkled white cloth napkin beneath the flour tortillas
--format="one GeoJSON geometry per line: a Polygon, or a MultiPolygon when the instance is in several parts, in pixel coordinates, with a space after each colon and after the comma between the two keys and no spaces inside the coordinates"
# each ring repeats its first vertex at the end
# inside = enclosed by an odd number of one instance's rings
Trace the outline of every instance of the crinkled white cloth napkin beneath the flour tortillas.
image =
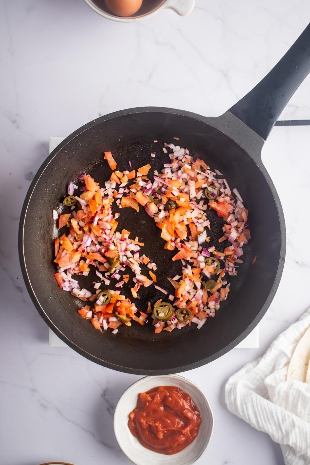
{"type": "Polygon", "coordinates": [[[309,326],[310,309],[225,387],[228,409],[279,443],[286,465],[310,464],[310,385],[286,381],[290,358],[309,326]]]}

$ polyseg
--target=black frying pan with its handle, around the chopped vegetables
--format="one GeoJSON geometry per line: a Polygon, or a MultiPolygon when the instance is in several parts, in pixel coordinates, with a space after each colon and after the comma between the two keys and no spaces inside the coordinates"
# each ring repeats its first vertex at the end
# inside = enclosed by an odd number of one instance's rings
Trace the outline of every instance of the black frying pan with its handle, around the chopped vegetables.
{"type": "MultiPolygon", "coordinates": [[[[277,117],[310,71],[310,25],[267,76],[229,111],[218,118],[170,108],[122,110],[82,126],[47,157],[26,195],[19,231],[20,264],[28,292],[48,326],[70,347],[106,367],[143,375],[182,372],[204,365],[244,339],[270,306],[280,281],[285,255],[282,207],[261,160],[261,149],[277,117]],[[252,239],[244,247],[244,264],[231,278],[231,292],[215,318],[198,330],[186,326],[155,335],[152,325],[121,327],[117,335],[100,333],[79,316],[83,303],[62,291],[53,277],[53,240],[58,230],[52,209],[59,206],[66,186],[80,173],[97,182],[109,178],[102,153],[110,150],[118,169],[151,163],[161,169],[164,142],[179,137],[178,145],[217,168],[237,187],[249,210],[252,239]],[[153,140],[158,140],[154,143],[153,140]],[[150,154],[156,151],[156,157],[150,154]],[[255,264],[252,264],[257,255],[255,264]]],[[[222,220],[208,211],[211,241],[222,235],[222,220]]],[[[164,250],[153,220],[145,212],[121,210],[125,227],[145,243],[143,252],[158,266],[158,284],[170,289],[167,277],[180,272],[174,252],[164,250]]],[[[211,242],[212,244],[212,242],[211,242]]],[[[222,243],[224,244],[224,243],[222,243]]],[[[79,283],[92,288],[94,275],[79,283]]],[[[103,287],[103,286],[102,286],[103,287]]],[[[128,289],[125,291],[127,292],[128,289]]],[[[154,286],[139,291],[138,308],[146,309],[163,294],[154,286]]],[[[130,291],[127,293],[130,296],[130,291]]]]}

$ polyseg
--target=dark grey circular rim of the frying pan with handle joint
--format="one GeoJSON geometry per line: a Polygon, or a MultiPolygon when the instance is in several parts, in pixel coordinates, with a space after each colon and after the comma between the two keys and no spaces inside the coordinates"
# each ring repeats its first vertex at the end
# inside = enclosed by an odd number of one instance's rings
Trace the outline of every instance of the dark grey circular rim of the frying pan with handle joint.
{"type": "MultiPolygon", "coordinates": [[[[99,365],[102,365],[107,368],[111,368],[113,370],[120,371],[120,372],[126,372],[126,373],[143,375],[143,376],[145,375],[154,376],[154,375],[160,375],[160,374],[165,375],[165,374],[175,374],[179,372],[185,372],[187,370],[192,370],[194,368],[198,368],[199,366],[203,366],[215,359],[218,359],[225,353],[229,352],[232,348],[234,348],[237,344],[239,344],[239,342],[241,342],[248,334],[250,334],[250,332],[255,328],[255,326],[257,326],[259,321],[263,318],[264,314],[268,310],[275,296],[275,293],[280,283],[283,268],[284,268],[285,248],[286,248],[285,222],[284,222],[284,213],[283,213],[283,209],[281,206],[281,202],[277,195],[276,188],[273,185],[272,180],[260,159],[260,150],[263,146],[263,143],[264,141],[254,131],[252,131],[248,126],[246,126],[241,120],[239,120],[237,117],[232,115],[230,112],[226,112],[219,117],[212,118],[212,117],[205,117],[197,113],[188,112],[185,110],[177,110],[174,108],[156,107],[156,106],[143,106],[143,107],[128,108],[128,109],[108,113],[104,116],[100,116],[99,118],[90,121],[89,123],[86,123],[84,126],[81,126],[76,131],[71,133],[68,137],[66,137],[65,140],[60,142],[60,144],[53,150],[53,152],[51,152],[47,156],[47,158],[44,160],[39,170],[37,171],[36,175],[34,176],[31,185],[29,186],[29,189],[26,193],[25,201],[22,206],[21,214],[20,214],[20,224],[19,224],[19,232],[18,232],[18,248],[19,248],[20,267],[21,267],[21,272],[24,278],[27,291],[33,301],[34,306],[40,313],[41,317],[44,319],[46,324],[52,329],[52,331],[59,337],[59,339],[65,342],[69,347],[71,347],[73,350],[78,352],[80,355],[86,357],[86,359],[89,359],[92,362],[95,362],[99,365]],[[25,252],[24,252],[24,226],[25,226],[25,219],[26,219],[26,214],[28,210],[28,205],[33,195],[33,192],[35,190],[35,187],[40,180],[42,173],[44,173],[45,169],[47,168],[49,163],[52,161],[52,159],[56,157],[59,151],[62,150],[69,142],[74,140],[75,137],[79,136],[81,133],[85,132],[89,128],[96,126],[97,124],[100,124],[106,120],[118,118],[120,116],[135,114],[135,113],[170,113],[170,114],[177,114],[179,116],[190,117],[194,120],[198,120],[205,124],[208,124],[209,126],[215,127],[216,129],[218,129],[218,131],[224,133],[231,140],[234,140],[234,142],[236,142],[237,145],[241,146],[241,148],[248,154],[248,156],[251,157],[251,159],[254,161],[254,163],[257,165],[257,167],[260,169],[260,171],[264,175],[264,178],[266,179],[268,183],[268,186],[270,188],[270,191],[272,193],[272,196],[274,198],[274,201],[277,207],[277,213],[278,213],[279,224],[280,224],[280,238],[281,238],[280,239],[280,260],[279,260],[279,264],[277,267],[277,273],[275,275],[275,279],[270,289],[268,298],[265,300],[264,306],[258,312],[256,318],[244,330],[244,332],[242,332],[230,344],[225,345],[225,347],[223,347],[223,349],[219,350],[218,352],[215,352],[214,354],[210,355],[209,357],[206,357],[205,359],[198,360],[197,362],[190,363],[187,365],[181,365],[175,368],[164,369],[164,370],[135,369],[135,368],[128,368],[126,366],[121,366],[121,365],[116,365],[110,362],[106,362],[105,360],[95,357],[94,355],[82,349],[81,347],[79,347],[79,345],[74,344],[70,339],[68,339],[65,336],[65,334],[63,334],[55,326],[53,321],[48,317],[43,307],[40,305],[40,301],[37,298],[35,292],[33,291],[33,287],[31,285],[31,281],[28,276],[27,267],[26,267],[26,258],[25,258],[25,252]],[[227,125],[226,119],[228,119],[228,122],[230,123],[230,126],[232,127],[229,127],[227,125]],[[252,139],[252,142],[254,140],[254,145],[257,146],[257,149],[254,150],[253,152],[256,152],[256,153],[249,153],[248,150],[246,150],[242,146],[243,145],[242,141],[240,141],[240,137],[242,139],[242,136],[240,136],[240,133],[242,133],[243,137],[245,136],[246,142],[248,142],[247,140],[248,138],[249,140],[252,139]],[[261,144],[259,143],[260,141],[262,141],[261,144]]],[[[247,144],[247,147],[248,147],[248,144],[247,144]]]]}

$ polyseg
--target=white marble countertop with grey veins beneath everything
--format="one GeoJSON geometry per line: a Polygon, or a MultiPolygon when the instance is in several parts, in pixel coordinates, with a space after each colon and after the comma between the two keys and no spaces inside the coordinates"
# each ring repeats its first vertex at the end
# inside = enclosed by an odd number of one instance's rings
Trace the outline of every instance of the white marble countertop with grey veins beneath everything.
{"type": "MultiPolygon", "coordinates": [[[[223,113],[285,53],[310,13],[308,0],[196,3],[186,18],[167,10],[135,24],[105,20],[83,0],[0,4],[1,464],[130,463],[114,438],[112,414],[138,377],[103,368],[68,347],[48,346],[48,327],[20,272],[18,222],[50,136],[66,136],[101,114],[132,106],[223,113]]],[[[281,118],[309,119],[309,95],[308,77],[281,118]]],[[[184,373],[204,390],[215,415],[211,444],[198,465],[283,463],[279,445],[227,411],[224,385],[310,305],[308,206],[290,196],[294,189],[301,199],[309,195],[309,140],[310,126],[277,127],[264,147],[288,245],[283,278],[260,324],[259,349],[234,349],[184,373]]]]}

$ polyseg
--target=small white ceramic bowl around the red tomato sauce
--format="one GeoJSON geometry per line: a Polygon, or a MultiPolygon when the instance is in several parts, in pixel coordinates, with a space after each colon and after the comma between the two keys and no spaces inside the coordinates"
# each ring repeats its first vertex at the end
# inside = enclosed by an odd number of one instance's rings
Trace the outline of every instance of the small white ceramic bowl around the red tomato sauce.
{"type": "Polygon", "coordinates": [[[213,413],[204,393],[189,379],[179,375],[146,376],[132,384],[119,399],[114,412],[114,433],[119,447],[136,465],[191,465],[203,454],[213,432],[213,413]],[[202,423],[198,436],[181,452],[174,455],[158,454],[145,449],[128,428],[130,412],[137,405],[139,392],[146,392],[157,386],[177,386],[187,392],[197,405],[202,423]]]}

